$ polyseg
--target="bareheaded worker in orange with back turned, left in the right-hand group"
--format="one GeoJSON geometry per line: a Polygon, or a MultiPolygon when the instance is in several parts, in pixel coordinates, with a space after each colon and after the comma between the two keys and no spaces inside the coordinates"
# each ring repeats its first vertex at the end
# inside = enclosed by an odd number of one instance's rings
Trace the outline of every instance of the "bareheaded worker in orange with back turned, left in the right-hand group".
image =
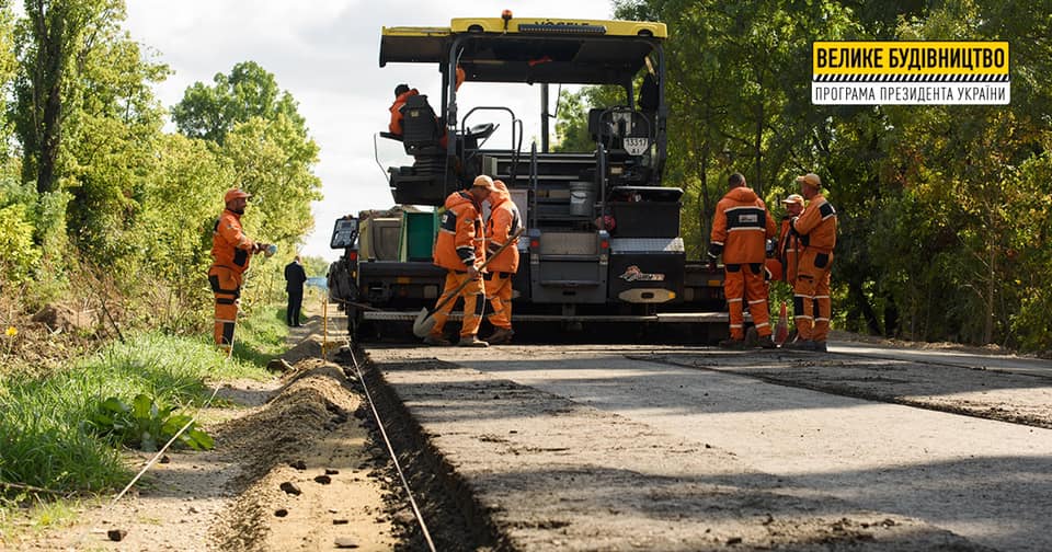
{"type": "Polygon", "coordinates": [[[730,191],[716,205],[709,240],[709,265],[714,266],[717,257],[723,255],[723,295],[731,319],[731,337],[721,341],[720,346],[745,347],[743,303],[748,301],[759,346],[775,348],[764,281],[766,242],[775,235],[775,220],[764,200],[745,185],[745,176],[734,173],[728,185],[730,191]]]}

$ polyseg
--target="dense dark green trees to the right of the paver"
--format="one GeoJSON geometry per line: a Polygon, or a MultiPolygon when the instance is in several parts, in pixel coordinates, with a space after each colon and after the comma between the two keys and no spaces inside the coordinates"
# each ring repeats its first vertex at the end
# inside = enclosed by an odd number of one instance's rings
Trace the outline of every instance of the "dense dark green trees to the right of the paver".
{"type": "MultiPolygon", "coordinates": [[[[668,25],[665,182],[707,244],[727,175],[768,205],[816,172],[839,212],[835,325],[1052,349],[1052,2],[618,0],[668,25]],[[1011,104],[812,105],[815,41],[1007,41],[1011,104]]],[[[569,97],[603,105],[602,89],[569,97]]],[[[573,125],[559,128],[573,139],[573,125]]]]}

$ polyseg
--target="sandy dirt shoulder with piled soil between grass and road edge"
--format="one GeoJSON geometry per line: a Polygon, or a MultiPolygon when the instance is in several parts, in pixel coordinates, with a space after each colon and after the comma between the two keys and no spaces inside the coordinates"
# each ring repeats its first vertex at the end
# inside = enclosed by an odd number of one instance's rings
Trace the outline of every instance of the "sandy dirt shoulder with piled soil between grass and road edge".
{"type": "MultiPolygon", "coordinates": [[[[343,368],[307,335],[271,382],[230,382],[236,409],[202,413],[208,452],[168,452],[116,505],[87,506],[77,525],[20,550],[364,551],[399,548],[405,506],[367,406],[343,368]],[[210,421],[210,422],[209,422],[210,421]],[[113,540],[119,537],[119,541],[113,540]]],[[[133,465],[150,455],[136,453],[133,465]]]]}

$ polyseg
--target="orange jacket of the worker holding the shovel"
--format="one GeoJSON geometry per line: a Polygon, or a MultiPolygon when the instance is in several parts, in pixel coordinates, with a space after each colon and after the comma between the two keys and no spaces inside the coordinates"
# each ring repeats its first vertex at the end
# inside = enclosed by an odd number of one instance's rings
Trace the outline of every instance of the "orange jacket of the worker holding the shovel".
{"type": "Polygon", "coordinates": [[[485,250],[482,246],[481,207],[466,189],[449,194],[445,206],[435,241],[435,264],[457,272],[482,264],[485,250]]]}

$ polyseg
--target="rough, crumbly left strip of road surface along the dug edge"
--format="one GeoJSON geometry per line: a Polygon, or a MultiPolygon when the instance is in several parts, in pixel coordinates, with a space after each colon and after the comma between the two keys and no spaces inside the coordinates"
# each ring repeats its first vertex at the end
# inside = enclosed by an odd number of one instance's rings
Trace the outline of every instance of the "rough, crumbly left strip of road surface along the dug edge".
{"type": "Polygon", "coordinates": [[[448,493],[496,549],[987,550],[916,519],[801,494],[728,451],[424,349],[369,354],[422,449],[445,467],[448,493]]]}

